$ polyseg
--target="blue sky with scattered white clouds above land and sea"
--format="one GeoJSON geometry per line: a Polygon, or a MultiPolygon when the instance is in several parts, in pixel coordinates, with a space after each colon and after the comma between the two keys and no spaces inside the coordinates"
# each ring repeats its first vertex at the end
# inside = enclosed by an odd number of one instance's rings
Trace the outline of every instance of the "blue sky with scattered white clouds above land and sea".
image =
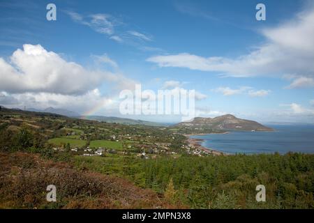
{"type": "Polygon", "coordinates": [[[53,1],[57,21],[47,3],[0,2],[0,105],[121,116],[137,83],[195,89],[200,116],[314,122],[311,1],[53,1]]]}

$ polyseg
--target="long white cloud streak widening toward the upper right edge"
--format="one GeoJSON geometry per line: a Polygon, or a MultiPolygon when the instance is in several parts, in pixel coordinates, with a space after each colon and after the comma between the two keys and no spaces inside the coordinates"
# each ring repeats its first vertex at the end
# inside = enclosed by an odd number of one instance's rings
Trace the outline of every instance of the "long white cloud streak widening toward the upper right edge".
{"type": "Polygon", "coordinates": [[[266,43],[236,59],[219,56],[206,58],[181,53],[151,56],[147,61],[157,63],[160,67],[220,72],[232,77],[281,77],[292,73],[298,77],[313,78],[313,20],[312,7],[311,10],[299,13],[290,22],[263,29],[261,33],[266,38],[266,43]]]}

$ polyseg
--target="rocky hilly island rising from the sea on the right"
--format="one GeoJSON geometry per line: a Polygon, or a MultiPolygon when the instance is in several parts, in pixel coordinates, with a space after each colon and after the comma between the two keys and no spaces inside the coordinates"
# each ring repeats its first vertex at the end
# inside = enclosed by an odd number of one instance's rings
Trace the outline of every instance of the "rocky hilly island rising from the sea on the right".
{"type": "Polygon", "coordinates": [[[256,121],[237,118],[231,114],[218,116],[216,118],[196,117],[193,118],[192,121],[182,122],[174,126],[186,128],[211,128],[214,130],[273,131],[272,128],[268,128],[256,121]]]}

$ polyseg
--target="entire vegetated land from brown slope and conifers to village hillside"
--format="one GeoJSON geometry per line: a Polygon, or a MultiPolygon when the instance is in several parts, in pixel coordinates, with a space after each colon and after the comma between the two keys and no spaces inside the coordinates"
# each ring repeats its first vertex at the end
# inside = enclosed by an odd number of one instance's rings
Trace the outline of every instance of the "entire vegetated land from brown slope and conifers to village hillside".
{"type": "Polygon", "coordinates": [[[314,155],[190,149],[173,129],[0,111],[0,208],[314,208],[314,155]]]}

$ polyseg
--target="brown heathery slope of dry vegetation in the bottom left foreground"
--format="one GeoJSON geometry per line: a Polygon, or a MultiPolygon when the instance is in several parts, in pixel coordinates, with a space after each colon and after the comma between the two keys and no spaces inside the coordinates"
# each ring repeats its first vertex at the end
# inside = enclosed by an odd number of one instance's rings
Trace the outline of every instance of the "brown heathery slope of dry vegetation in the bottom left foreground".
{"type": "Polygon", "coordinates": [[[128,180],[29,153],[0,153],[0,208],[165,208],[151,190],[128,180]],[[47,202],[47,185],[56,185],[57,202],[47,202]]]}

